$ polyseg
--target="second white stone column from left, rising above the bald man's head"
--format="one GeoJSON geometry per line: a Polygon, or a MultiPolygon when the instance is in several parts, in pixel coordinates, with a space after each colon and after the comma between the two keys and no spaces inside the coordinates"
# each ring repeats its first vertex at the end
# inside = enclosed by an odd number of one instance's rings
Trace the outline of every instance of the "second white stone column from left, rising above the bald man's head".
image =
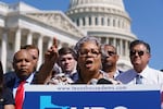
{"type": "Polygon", "coordinates": [[[21,28],[17,28],[16,34],[15,34],[15,45],[14,45],[14,52],[20,50],[21,47],[21,28]]]}

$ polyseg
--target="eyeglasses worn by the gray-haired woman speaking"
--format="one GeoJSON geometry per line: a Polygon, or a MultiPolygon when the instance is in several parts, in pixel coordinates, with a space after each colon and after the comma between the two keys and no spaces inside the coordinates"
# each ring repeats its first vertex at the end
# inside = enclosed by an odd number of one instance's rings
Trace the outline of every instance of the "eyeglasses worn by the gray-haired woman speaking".
{"type": "Polygon", "coordinates": [[[96,50],[96,49],[82,49],[82,50],[79,50],[79,52],[78,52],[78,55],[80,56],[80,57],[87,57],[88,56],[88,53],[90,53],[91,56],[93,56],[93,57],[98,57],[101,52],[99,51],[99,50],[96,50]]]}

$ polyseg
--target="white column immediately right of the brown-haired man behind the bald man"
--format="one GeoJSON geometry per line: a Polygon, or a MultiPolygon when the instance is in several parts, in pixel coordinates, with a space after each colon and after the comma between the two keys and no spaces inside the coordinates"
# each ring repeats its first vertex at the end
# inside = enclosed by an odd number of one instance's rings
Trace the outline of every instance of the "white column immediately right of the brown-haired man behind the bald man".
{"type": "Polygon", "coordinates": [[[38,37],[38,49],[39,49],[39,59],[38,59],[38,68],[42,64],[42,50],[43,50],[43,48],[42,48],[42,43],[43,43],[43,36],[42,35],[40,35],[39,37],[38,37]]]}

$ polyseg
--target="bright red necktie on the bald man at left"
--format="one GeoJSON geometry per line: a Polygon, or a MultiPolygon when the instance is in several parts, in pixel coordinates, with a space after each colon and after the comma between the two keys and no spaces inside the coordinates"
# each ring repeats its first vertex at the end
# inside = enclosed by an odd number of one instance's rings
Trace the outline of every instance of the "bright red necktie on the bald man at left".
{"type": "Polygon", "coordinates": [[[15,109],[23,109],[24,84],[25,81],[21,82],[21,84],[17,87],[16,95],[15,95],[15,109]]]}

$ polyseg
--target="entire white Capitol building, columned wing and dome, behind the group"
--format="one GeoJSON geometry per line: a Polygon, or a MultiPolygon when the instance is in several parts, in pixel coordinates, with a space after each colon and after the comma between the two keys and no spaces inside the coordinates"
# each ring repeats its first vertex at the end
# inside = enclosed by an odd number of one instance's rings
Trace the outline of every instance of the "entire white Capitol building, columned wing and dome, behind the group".
{"type": "Polygon", "coordinates": [[[70,0],[65,13],[39,10],[25,2],[0,2],[0,58],[4,72],[12,70],[13,55],[23,45],[39,48],[40,65],[53,37],[61,48],[73,47],[84,36],[95,36],[102,44],[115,46],[118,69],[131,68],[128,46],[137,37],[131,33],[131,20],[123,0],[70,0]]]}

